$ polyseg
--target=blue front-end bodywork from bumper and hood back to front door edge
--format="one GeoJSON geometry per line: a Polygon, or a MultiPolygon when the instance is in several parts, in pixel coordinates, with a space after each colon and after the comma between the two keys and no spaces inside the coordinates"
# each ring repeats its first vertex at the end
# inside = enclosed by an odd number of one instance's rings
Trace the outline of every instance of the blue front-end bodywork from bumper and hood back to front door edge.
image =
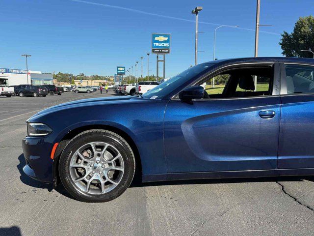
{"type": "Polygon", "coordinates": [[[26,159],[33,155],[28,154],[30,146],[35,144],[36,147],[42,147],[45,151],[40,148],[42,154],[36,160],[36,163],[41,163],[42,169],[36,169],[35,172],[44,173],[40,178],[52,181],[50,152],[53,144],[78,127],[108,125],[127,133],[140,156],[146,157],[141,159],[143,175],[166,173],[162,126],[167,102],[125,96],[120,99],[84,99],[46,109],[29,118],[28,122],[49,124],[53,132],[45,138],[26,137],[27,142],[23,142],[27,147],[24,148],[26,159]]]}

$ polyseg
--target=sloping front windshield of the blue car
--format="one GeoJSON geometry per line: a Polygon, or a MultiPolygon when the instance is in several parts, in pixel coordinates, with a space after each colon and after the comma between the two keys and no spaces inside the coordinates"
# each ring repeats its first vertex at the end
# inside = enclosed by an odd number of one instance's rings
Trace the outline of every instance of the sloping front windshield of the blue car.
{"type": "Polygon", "coordinates": [[[151,89],[143,94],[144,98],[162,99],[165,95],[176,90],[186,82],[190,81],[193,77],[198,77],[206,72],[212,64],[204,63],[193,66],[182,73],[172,77],[171,79],[161,83],[154,89],[151,89]]]}

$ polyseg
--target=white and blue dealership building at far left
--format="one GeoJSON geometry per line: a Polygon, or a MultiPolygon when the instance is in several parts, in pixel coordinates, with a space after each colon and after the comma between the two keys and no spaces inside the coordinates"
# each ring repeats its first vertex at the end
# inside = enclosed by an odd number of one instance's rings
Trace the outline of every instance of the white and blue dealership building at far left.
{"type": "Polygon", "coordinates": [[[0,68],[0,85],[53,85],[52,74],[40,71],[0,68]],[[28,77],[28,81],[27,81],[28,77]]]}

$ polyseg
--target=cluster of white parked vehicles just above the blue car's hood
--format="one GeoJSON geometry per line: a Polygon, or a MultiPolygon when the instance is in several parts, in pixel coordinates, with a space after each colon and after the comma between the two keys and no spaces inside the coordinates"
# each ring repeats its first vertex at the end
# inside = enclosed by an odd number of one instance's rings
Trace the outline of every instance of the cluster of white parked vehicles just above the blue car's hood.
{"type": "Polygon", "coordinates": [[[137,84],[129,84],[129,85],[115,85],[113,86],[113,90],[116,93],[125,94],[125,95],[136,95],[143,94],[156,86],[158,86],[160,82],[157,81],[145,81],[138,82],[137,84]]]}

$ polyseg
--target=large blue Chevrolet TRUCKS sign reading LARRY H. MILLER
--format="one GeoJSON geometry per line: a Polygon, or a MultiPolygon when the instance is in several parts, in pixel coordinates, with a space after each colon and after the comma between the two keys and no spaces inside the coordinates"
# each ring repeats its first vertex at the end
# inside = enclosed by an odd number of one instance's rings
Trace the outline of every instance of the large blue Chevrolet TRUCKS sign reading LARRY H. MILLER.
{"type": "Polygon", "coordinates": [[[170,33],[152,33],[152,53],[170,53],[170,33]]]}

